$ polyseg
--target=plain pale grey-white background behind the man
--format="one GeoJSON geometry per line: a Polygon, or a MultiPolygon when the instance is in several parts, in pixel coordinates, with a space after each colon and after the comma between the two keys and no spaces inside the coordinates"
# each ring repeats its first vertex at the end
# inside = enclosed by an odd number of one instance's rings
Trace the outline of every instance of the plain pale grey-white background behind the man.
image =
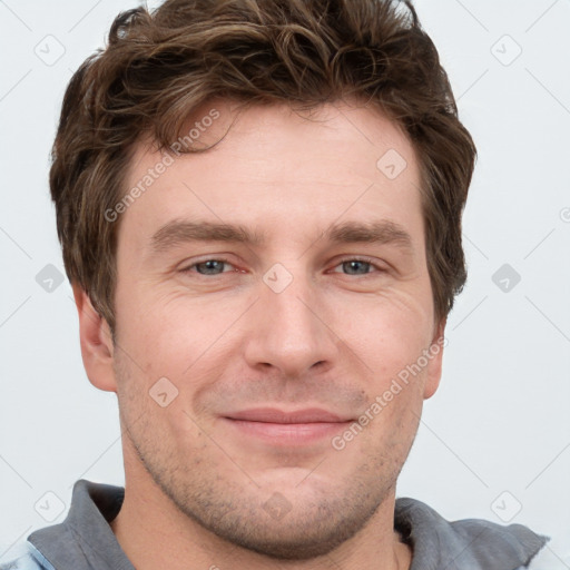
{"type": "MultiPolygon", "coordinates": [[[[65,518],[77,479],[124,483],[115,396],[87,381],[70,286],[49,281],[63,268],[47,177],[71,72],[134,6],[0,1],[0,559],[65,518]]],[[[529,524],[570,568],[570,0],[416,8],[479,163],[469,284],[399,495],[529,524]]]]}

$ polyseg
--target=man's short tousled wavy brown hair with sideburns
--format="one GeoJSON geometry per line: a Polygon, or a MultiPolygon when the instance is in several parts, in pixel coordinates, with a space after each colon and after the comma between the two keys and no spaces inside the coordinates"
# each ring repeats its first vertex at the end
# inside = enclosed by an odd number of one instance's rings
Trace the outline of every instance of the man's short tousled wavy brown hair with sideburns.
{"type": "Polygon", "coordinates": [[[149,136],[168,147],[198,106],[219,97],[304,108],[355,97],[402,126],[422,175],[435,315],[448,315],[466,278],[461,216],[476,151],[412,3],[167,0],[116,18],[108,47],[67,88],[53,145],[66,271],[111,331],[120,220],[104,213],[125,195],[134,144],[149,136]]]}

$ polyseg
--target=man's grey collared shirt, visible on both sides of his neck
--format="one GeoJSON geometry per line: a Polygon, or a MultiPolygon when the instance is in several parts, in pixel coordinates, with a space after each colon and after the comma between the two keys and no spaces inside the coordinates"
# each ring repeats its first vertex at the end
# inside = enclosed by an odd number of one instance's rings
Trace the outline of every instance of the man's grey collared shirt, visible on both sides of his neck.
{"type": "MultiPolygon", "coordinates": [[[[124,498],[124,488],[77,481],[66,520],[32,532],[0,570],[135,570],[109,525],[124,498]]],[[[413,549],[410,570],[520,570],[548,540],[521,524],[449,522],[414,499],[396,500],[394,528],[413,549]]]]}

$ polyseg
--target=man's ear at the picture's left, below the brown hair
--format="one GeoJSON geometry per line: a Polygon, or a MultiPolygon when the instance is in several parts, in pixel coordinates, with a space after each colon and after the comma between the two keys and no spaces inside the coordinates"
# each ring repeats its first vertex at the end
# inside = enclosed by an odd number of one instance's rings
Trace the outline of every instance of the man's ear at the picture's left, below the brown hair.
{"type": "Polygon", "coordinates": [[[81,356],[89,382],[99,390],[117,392],[114,371],[114,344],[107,321],[97,313],[89,295],[77,284],[71,284],[79,314],[81,356]]]}

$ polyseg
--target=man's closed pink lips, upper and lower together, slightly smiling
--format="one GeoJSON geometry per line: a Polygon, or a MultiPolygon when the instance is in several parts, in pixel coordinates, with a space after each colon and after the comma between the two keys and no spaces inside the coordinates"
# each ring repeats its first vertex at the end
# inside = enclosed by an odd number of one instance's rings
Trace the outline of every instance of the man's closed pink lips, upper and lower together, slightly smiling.
{"type": "Polygon", "coordinates": [[[273,407],[244,410],[224,420],[240,436],[255,438],[272,446],[317,443],[344,430],[353,420],[316,407],[284,412],[273,407]]]}

